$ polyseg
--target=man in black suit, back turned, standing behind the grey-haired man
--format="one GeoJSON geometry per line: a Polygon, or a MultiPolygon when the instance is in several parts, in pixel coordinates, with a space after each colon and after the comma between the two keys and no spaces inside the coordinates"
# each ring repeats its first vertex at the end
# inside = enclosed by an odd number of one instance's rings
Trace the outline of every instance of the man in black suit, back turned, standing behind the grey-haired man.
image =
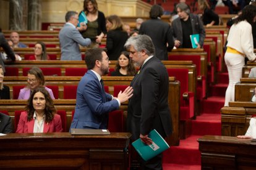
{"type": "Polygon", "coordinates": [[[163,7],[153,5],[150,9],[150,20],[142,23],[139,34],[150,36],[158,59],[168,60],[168,51],[174,47],[173,31],[167,22],[160,19],[161,15],[163,15],[163,7]]]}

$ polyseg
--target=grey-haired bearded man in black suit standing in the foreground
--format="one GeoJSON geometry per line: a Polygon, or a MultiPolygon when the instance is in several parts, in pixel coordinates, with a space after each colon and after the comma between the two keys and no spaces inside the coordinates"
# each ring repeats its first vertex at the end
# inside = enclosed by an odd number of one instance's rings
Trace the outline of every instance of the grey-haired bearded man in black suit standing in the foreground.
{"type": "MultiPolygon", "coordinates": [[[[130,37],[124,46],[130,51],[130,59],[140,67],[130,84],[134,95],[129,99],[127,129],[132,133],[132,141],[140,138],[145,144],[151,144],[148,137],[151,130],[156,129],[163,138],[173,131],[168,72],[154,55],[155,47],[149,36],[130,37]]],[[[162,154],[140,163],[142,169],[162,169],[162,154]]]]}

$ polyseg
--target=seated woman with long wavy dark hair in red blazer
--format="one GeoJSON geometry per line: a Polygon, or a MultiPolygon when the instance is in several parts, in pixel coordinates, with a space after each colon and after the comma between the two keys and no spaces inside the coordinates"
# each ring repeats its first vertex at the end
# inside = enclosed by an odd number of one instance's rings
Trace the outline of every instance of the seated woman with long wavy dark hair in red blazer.
{"type": "Polygon", "coordinates": [[[61,116],[44,87],[35,89],[20,115],[16,133],[62,132],[61,116]]]}

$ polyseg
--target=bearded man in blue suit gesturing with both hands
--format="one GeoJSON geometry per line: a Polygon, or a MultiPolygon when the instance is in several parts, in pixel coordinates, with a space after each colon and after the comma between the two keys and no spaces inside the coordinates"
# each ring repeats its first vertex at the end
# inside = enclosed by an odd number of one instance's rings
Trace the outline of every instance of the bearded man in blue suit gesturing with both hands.
{"type": "Polygon", "coordinates": [[[103,49],[89,49],[85,56],[88,71],[77,87],[77,103],[70,129],[107,129],[108,113],[130,99],[133,90],[127,87],[117,97],[106,93],[101,76],[109,73],[108,55],[103,49]]]}

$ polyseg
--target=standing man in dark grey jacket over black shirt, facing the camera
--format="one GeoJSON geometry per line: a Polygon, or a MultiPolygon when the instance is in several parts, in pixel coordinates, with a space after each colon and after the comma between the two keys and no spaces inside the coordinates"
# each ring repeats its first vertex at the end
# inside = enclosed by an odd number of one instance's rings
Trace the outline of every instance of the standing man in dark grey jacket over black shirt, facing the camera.
{"type": "Polygon", "coordinates": [[[199,34],[197,48],[203,46],[205,39],[205,28],[198,15],[190,14],[187,4],[181,2],[176,6],[178,18],[173,20],[174,46],[177,48],[192,48],[190,41],[191,34],[199,34]]]}

